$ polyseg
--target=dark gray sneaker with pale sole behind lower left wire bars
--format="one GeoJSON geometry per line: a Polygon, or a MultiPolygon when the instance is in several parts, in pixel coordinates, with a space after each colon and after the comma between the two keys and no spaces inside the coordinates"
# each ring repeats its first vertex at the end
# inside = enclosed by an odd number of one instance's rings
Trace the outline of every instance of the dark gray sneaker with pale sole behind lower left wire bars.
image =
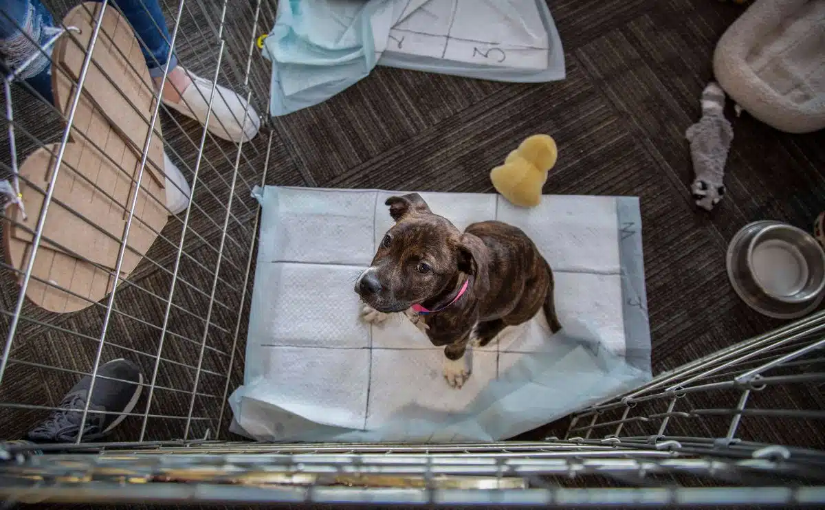
{"type": "MultiPolygon", "coordinates": [[[[101,365],[97,370],[94,394],[89,400],[89,412],[83,427],[82,440],[96,441],[126,418],[138,403],[143,390],[144,375],[131,361],[117,359],[101,365]],[[111,377],[112,379],[104,379],[111,377]],[[124,381],[132,382],[124,382],[124,381]],[[94,411],[107,411],[103,414],[94,411]]],[[[75,442],[80,432],[82,409],[89,397],[92,376],[83,377],[60,403],[59,411],[51,413],[40,425],[29,431],[26,437],[33,442],[75,442]],[[69,411],[68,409],[81,409],[69,411]]]]}

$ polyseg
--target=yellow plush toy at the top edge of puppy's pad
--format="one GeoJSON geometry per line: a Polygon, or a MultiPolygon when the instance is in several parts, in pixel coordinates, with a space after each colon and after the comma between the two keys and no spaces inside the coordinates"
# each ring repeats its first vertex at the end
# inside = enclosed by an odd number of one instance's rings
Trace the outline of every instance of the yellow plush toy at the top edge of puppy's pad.
{"type": "Polygon", "coordinates": [[[490,180],[508,201],[522,207],[539,205],[541,187],[558,155],[553,137],[532,135],[507,155],[502,166],[490,171],[490,180]]]}

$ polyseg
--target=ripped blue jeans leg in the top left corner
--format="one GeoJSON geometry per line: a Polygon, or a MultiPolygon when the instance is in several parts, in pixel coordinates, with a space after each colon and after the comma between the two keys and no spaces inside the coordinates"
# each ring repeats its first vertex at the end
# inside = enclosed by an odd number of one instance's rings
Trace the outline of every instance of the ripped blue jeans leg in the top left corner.
{"type": "Polygon", "coordinates": [[[51,46],[45,50],[40,47],[59,31],[40,0],[3,0],[0,72],[13,73],[33,58],[17,78],[25,80],[46,101],[52,102],[51,46]]]}

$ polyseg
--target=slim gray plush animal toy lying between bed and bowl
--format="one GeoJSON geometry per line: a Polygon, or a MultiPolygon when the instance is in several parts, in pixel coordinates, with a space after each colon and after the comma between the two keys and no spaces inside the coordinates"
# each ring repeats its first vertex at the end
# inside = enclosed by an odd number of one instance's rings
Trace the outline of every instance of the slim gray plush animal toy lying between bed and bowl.
{"type": "Polygon", "coordinates": [[[724,92],[714,82],[702,92],[702,118],[687,128],[695,180],[691,186],[696,205],[712,210],[724,196],[724,163],[733,140],[733,128],[724,118],[724,92]]]}

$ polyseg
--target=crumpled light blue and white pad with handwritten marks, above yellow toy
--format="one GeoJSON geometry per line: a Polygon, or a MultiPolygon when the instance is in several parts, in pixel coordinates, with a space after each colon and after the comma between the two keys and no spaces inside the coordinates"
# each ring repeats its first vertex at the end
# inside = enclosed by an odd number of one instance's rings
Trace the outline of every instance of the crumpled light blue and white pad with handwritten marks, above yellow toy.
{"type": "Polygon", "coordinates": [[[263,55],[274,116],[325,101],[376,64],[517,83],[564,78],[544,0],[284,0],[263,55]]]}

